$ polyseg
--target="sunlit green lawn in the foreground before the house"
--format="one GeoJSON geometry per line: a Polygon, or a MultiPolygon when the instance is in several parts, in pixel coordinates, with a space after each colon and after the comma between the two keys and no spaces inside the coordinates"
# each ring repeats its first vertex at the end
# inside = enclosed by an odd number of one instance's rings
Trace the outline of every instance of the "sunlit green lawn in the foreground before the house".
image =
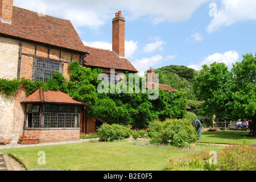
{"type": "MultiPolygon", "coordinates": [[[[205,149],[217,151],[222,148],[223,146],[215,146],[205,149]]],[[[11,153],[16,156],[27,169],[55,168],[71,171],[161,171],[171,156],[198,153],[202,150],[179,151],[134,146],[127,140],[0,149],[5,154],[11,153]],[[38,164],[39,151],[45,152],[46,165],[38,164]]]]}

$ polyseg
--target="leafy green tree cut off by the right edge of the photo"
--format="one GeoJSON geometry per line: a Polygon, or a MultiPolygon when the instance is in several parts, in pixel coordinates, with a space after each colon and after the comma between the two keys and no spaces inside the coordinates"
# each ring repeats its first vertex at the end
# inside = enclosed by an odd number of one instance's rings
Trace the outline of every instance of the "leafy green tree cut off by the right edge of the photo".
{"type": "Polygon", "coordinates": [[[250,119],[253,136],[256,137],[256,57],[243,55],[241,63],[233,65],[233,114],[250,119]]]}

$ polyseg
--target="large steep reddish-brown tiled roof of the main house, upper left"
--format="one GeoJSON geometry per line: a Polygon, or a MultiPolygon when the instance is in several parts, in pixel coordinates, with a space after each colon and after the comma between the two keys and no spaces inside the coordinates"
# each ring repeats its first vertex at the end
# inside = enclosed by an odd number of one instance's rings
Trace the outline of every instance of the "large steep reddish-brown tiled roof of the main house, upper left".
{"type": "Polygon", "coordinates": [[[70,20],[13,7],[11,24],[0,22],[0,34],[86,52],[70,20]]]}

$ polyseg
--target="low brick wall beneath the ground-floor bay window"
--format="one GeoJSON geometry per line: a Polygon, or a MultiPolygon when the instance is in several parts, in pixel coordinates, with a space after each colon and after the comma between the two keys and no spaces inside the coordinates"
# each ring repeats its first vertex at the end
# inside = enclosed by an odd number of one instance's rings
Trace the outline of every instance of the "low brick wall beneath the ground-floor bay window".
{"type": "Polygon", "coordinates": [[[79,140],[80,129],[65,130],[27,130],[23,131],[23,135],[37,137],[41,143],[49,142],[65,142],[79,140]]]}

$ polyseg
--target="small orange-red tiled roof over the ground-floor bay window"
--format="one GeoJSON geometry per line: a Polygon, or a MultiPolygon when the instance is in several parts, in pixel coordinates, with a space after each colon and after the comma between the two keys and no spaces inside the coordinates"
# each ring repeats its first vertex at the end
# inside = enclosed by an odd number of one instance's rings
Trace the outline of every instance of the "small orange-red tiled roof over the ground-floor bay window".
{"type": "Polygon", "coordinates": [[[43,91],[41,89],[35,90],[34,93],[27,96],[21,103],[55,103],[55,104],[74,104],[83,105],[82,102],[73,100],[68,94],[59,90],[43,91]]]}

